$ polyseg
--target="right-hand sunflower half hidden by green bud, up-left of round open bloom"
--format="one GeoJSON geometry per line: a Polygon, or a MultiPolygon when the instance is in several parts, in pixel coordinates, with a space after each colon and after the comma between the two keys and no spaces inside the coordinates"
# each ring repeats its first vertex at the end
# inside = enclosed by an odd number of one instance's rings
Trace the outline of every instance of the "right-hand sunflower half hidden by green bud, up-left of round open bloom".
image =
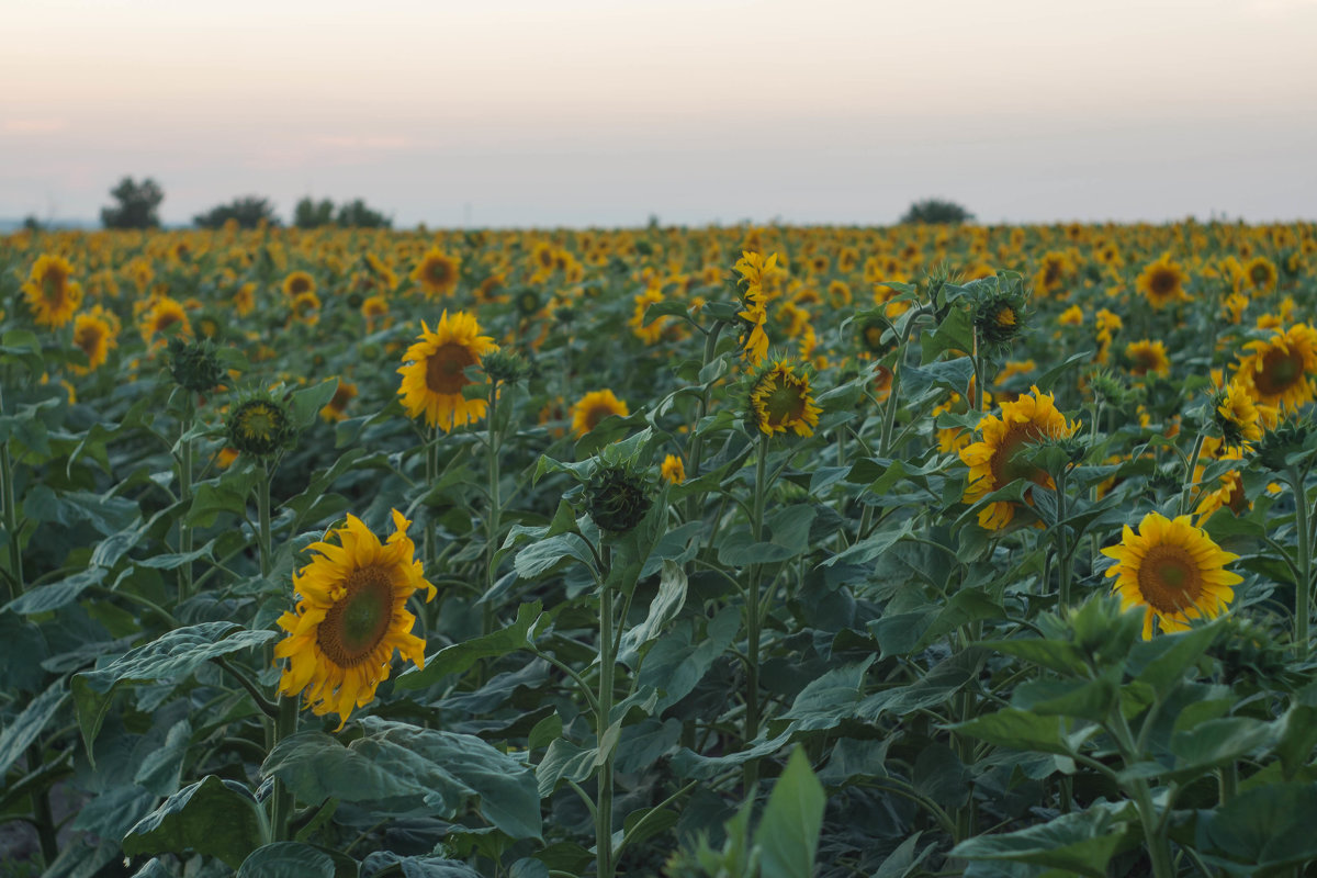
{"type": "MultiPolygon", "coordinates": [[[[1042,394],[1038,387],[1013,403],[1002,403],[1000,412],[979,423],[981,441],[960,450],[960,459],[969,467],[965,503],[976,503],[1015,479],[1052,487],[1051,477],[1043,470],[1015,458],[1029,442],[1068,438],[1079,429],[1076,421],[1067,421],[1056,409],[1055,398],[1042,394]]],[[[979,524],[989,530],[1005,528],[1014,517],[1015,504],[1010,500],[997,500],[979,511],[979,524]]]]}

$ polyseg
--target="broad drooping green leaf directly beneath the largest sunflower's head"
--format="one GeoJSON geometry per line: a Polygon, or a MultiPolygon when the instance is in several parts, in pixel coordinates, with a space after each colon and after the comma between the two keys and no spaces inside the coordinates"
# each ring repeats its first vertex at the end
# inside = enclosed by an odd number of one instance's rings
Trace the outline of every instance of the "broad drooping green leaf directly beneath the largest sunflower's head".
{"type": "Polygon", "coordinates": [[[514,839],[540,837],[540,796],[525,765],[470,735],[362,723],[369,733],[346,746],[324,732],[287,737],[261,770],[303,802],[370,802],[382,815],[427,807],[453,817],[478,800],[481,815],[514,839]]]}

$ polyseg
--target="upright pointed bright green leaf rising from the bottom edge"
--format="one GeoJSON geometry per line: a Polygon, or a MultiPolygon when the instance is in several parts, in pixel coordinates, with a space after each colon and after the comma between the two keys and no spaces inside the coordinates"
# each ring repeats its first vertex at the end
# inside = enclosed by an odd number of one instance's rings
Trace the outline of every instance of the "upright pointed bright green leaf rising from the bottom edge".
{"type": "Polygon", "coordinates": [[[795,748],[755,831],[763,878],[801,878],[814,871],[827,796],[803,748],[795,748]]]}

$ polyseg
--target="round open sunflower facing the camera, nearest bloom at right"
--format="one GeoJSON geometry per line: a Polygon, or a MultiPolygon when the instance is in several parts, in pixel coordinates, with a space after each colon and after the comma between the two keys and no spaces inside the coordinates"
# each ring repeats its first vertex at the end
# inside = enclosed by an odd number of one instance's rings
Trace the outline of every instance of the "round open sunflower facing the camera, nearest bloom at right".
{"type": "Polygon", "coordinates": [[[1225,565],[1239,555],[1222,552],[1189,516],[1175,520],[1148,512],[1138,533],[1125,525],[1121,545],[1102,549],[1115,558],[1106,570],[1115,577],[1113,591],[1121,607],[1143,607],[1143,638],[1152,637],[1154,616],[1163,632],[1188,631],[1195,619],[1216,619],[1234,599],[1233,586],[1243,582],[1225,565]]]}

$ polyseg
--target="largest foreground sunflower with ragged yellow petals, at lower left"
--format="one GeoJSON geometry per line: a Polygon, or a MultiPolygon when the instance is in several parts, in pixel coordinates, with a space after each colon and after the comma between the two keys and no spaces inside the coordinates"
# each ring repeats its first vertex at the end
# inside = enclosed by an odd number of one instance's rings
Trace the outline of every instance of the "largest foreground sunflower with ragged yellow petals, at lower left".
{"type": "Polygon", "coordinates": [[[416,617],[406,606],[420,590],[433,599],[435,586],[412,557],[411,523],[398,509],[392,515],[394,533],[383,544],[349,515],[345,527],[331,530],[338,545],[325,534],[307,546],[319,554],[292,578],[295,612],[279,617],[287,637],[274,654],[288,659],[279,692],[302,694],[316,716],[337,713],[340,729],[352,708],[369,704],[389,679],[395,649],[417,667],[425,665],[425,641],[411,633],[416,617]]]}

